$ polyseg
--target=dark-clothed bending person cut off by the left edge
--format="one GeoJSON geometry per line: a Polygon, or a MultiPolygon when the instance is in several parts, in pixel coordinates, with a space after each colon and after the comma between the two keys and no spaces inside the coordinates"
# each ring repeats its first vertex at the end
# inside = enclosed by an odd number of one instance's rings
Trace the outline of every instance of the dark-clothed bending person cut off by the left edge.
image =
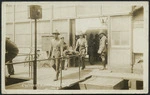
{"type": "MultiPolygon", "coordinates": [[[[6,53],[5,53],[5,63],[12,63],[12,60],[19,53],[19,49],[14,42],[10,40],[9,37],[6,37],[6,53]]],[[[7,65],[8,73],[14,75],[13,64],[7,65]]]]}

